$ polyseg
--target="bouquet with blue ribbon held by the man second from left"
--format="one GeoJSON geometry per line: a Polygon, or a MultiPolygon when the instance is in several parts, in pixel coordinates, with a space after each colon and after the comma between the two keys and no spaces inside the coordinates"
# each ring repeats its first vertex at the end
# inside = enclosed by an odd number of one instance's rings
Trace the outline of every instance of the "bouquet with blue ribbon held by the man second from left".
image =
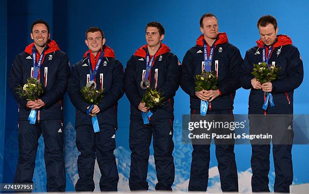
{"type": "MultiPolygon", "coordinates": [[[[81,92],[81,96],[83,101],[85,101],[86,103],[91,104],[87,110],[87,114],[90,115],[91,110],[93,109],[94,105],[98,105],[104,95],[103,95],[103,91],[104,89],[96,89],[96,84],[94,81],[90,81],[88,82],[86,86],[84,86],[80,92],[81,92]],[[90,84],[88,84],[90,83],[90,84]]],[[[91,115],[91,121],[92,121],[92,126],[93,126],[93,130],[94,132],[98,132],[100,131],[99,125],[98,125],[98,121],[97,121],[97,117],[95,114],[91,115]]]]}

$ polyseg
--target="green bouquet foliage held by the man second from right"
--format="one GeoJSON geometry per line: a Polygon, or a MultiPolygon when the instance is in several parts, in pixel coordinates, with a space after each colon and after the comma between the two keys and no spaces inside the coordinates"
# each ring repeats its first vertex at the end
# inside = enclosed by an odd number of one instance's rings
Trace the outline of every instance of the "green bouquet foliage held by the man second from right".
{"type": "Polygon", "coordinates": [[[195,91],[216,90],[218,85],[218,78],[214,72],[202,71],[201,74],[195,75],[195,91]]]}

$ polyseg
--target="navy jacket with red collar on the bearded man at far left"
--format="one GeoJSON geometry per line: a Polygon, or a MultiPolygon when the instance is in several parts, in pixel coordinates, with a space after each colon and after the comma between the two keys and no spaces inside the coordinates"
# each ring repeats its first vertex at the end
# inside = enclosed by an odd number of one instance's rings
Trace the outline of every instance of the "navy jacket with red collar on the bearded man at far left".
{"type": "MultiPolygon", "coordinates": [[[[31,111],[26,107],[27,100],[20,98],[16,93],[16,88],[26,84],[27,78],[33,75],[33,45],[34,43],[29,44],[24,52],[15,57],[8,78],[13,96],[19,104],[19,120],[27,120],[31,111]]],[[[37,62],[39,57],[37,53],[37,62]]],[[[63,96],[67,89],[69,76],[70,66],[67,55],[60,51],[54,40],[49,40],[38,75],[44,89],[40,99],[46,104],[37,113],[39,120],[61,120],[63,118],[63,96]]]]}

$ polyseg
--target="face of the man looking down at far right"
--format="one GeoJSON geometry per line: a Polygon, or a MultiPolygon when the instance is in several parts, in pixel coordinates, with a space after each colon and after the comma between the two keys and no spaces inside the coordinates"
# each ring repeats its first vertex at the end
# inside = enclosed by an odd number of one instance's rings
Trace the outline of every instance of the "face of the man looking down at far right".
{"type": "Polygon", "coordinates": [[[277,38],[278,27],[275,29],[274,25],[269,23],[265,27],[259,26],[259,32],[263,43],[270,46],[277,38]]]}

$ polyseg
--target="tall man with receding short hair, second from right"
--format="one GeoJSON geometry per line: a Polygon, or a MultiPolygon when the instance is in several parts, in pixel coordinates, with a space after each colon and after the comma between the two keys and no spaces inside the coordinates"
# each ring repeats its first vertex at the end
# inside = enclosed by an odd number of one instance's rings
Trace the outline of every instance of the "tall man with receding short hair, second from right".
{"type": "MultiPolygon", "coordinates": [[[[185,54],[182,62],[181,88],[190,96],[191,118],[201,112],[201,101],[209,101],[206,115],[217,120],[233,122],[233,101],[240,87],[239,66],[243,62],[239,50],[228,42],[226,33],[218,32],[218,20],[208,13],[200,18],[201,35],[196,45],[185,54]],[[212,71],[218,77],[217,90],[195,91],[195,75],[202,70],[212,71]],[[226,115],[226,116],[224,116],[226,115]],[[226,121],[226,120],[225,120],[226,121]]],[[[213,119],[210,119],[213,120],[213,119]]],[[[224,129],[220,129],[224,130],[224,129]]],[[[232,132],[228,129],[228,132],[232,132]]],[[[216,156],[222,191],[238,191],[234,141],[221,142],[215,139],[216,156]]],[[[192,141],[192,163],[189,190],[206,191],[210,162],[211,139],[204,142],[192,141]]]]}

